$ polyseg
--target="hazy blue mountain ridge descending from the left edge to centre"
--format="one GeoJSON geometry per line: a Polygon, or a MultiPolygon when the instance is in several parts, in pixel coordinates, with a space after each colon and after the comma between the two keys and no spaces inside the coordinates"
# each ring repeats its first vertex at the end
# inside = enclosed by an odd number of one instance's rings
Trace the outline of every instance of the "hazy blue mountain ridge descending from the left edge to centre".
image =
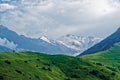
{"type": "Polygon", "coordinates": [[[0,25],[0,38],[13,42],[16,51],[36,51],[49,54],[74,54],[77,51],[64,46],[55,41],[49,43],[43,39],[28,38],[23,35],[18,35],[16,32],[9,30],[3,25],[0,25]]]}

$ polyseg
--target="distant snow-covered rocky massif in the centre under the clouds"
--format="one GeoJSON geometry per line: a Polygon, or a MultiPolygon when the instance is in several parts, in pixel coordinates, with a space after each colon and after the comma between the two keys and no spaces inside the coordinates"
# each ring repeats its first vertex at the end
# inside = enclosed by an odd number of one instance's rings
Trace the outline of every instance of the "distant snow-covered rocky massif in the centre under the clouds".
{"type": "Polygon", "coordinates": [[[81,53],[84,50],[92,47],[96,43],[100,42],[101,40],[102,38],[97,38],[93,36],[85,37],[85,36],[76,36],[76,35],[68,34],[59,38],[58,42],[69,48],[78,50],[79,53],[81,53]]]}

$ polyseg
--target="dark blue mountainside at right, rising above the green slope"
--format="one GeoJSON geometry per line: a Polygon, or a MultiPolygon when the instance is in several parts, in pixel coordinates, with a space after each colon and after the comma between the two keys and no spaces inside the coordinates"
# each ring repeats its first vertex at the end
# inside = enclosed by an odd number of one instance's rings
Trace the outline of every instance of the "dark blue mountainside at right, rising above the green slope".
{"type": "Polygon", "coordinates": [[[110,35],[109,37],[101,41],[100,43],[96,44],[95,46],[81,53],[80,56],[107,50],[117,42],[120,42],[120,28],[116,32],[114,32],[112,35],[110,35]]]}

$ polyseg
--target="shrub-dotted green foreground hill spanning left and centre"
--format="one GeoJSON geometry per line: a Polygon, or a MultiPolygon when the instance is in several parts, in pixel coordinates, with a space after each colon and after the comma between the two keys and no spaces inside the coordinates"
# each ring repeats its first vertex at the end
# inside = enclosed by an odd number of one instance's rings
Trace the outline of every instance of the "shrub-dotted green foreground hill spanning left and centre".
{"type": "Polygon", "coordinates": [[[32,52],[0,53],[0,80],[99,80],[79,58],[32,52]]]}

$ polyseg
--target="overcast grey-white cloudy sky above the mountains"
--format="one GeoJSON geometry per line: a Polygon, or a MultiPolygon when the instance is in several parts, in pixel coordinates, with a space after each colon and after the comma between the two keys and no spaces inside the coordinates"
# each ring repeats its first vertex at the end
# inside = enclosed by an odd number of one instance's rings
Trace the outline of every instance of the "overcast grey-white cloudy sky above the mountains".
{"type": "Polygon", "coordinates": [[[0,24],[19,34],[106,37],[120,26],[119,0],[0,0],[0,24]]]}

